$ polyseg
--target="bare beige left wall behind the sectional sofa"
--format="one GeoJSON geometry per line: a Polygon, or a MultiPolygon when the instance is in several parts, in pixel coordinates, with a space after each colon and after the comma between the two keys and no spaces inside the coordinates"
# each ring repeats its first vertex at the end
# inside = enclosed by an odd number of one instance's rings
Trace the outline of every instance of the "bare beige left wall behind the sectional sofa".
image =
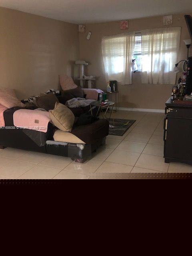
{"type": "Polygon", "coordinates": [[[77,25],[0,8],[0,87],[19,98],[57,89],[78,58],[77,25]]]}

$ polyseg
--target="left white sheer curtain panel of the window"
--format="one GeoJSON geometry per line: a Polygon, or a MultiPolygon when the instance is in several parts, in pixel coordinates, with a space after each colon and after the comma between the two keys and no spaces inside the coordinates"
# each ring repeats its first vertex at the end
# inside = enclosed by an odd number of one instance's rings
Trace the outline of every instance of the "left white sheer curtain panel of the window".
{"type": "Polygon", "coordinates": [[[132,84],[131,62],[134,43],[135,32],[102,38],[106,82],[117,80],[120,84],[132,84]]]}

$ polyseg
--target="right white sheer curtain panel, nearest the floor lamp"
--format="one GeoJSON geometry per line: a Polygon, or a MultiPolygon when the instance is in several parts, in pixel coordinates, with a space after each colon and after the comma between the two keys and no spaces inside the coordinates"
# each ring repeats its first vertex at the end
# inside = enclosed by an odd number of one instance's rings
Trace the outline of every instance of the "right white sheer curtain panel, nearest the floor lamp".
{"type": "Polygon", "coordinates": [[[181,28],[142,30],[142,83],[175,84],[181,28]]]}

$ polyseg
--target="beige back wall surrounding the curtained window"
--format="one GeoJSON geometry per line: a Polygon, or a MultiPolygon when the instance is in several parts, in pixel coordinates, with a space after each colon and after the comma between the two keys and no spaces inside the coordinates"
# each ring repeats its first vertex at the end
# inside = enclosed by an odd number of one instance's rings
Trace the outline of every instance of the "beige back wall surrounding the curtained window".
{"type": "MultiPolygon", "coordinates": [[[[90,62],[90,65],[87,68],[87,73],[89,75],[97,76],[97,88],[106,89],[101,54],[102,36],[120,34],[125,31],[137,32],[143,29],[160,28],[163,26],[162,21],[162,16],[129,20],[128,30],[120,30],[119,22],[86,24],[86,33],[79,34],[80,58],[90,62]],[[89,31],[92,32],[92,36],[90,40],[86,40],[89,31]]],[[[185,59],[187,56],[187,49],[182,40],[190,38],[190,35],[187,30],[184,14],[173,15],[173,26],[182,27],[178,60],[185,59]]],[[[192,55],[192,47],[190,48],[190,55],[192,55]]],[[[120,93],[119,106],[126,108],[164,109],[164,103],[170,97],[171,89],[172,85],[142,84],[141,73],[136,72],[133,74],[132,85],[118,86],[120,93]]]]}

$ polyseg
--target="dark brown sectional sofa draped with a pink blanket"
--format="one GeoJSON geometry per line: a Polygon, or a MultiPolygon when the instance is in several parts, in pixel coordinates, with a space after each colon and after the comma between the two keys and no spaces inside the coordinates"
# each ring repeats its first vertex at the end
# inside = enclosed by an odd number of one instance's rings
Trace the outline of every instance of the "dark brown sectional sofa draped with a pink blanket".
{"type": "MultiPolygon", "coordinates": [[[[63,99],[59,96],[58,100],[63,103],[63,99]]],[[[109,131],[109,123],[105,119],[99,119],[92,124],[82,126],[76,126],[74,124],[72,134],[75,134],[86,144],[55,142],[53,139],[55,127],[51,123],[48,124],[48,131],[46,133],[16,128],[13,124],[13,114],[20,108],[14,107],[4,112],[5,126],[12,128],[0,129],[0,148],[12,147],[67,156],[76,162],[82,163],[88,157],[91,157],[93,151],[105,144],[105,139],[109,131]]],[[[77,120],[81,114],[89,112],[90,106],[85,108],[71,108],[71,110],[77,120]]],[[[94,110],[95,113],[96,110],[94,110]]]]}

